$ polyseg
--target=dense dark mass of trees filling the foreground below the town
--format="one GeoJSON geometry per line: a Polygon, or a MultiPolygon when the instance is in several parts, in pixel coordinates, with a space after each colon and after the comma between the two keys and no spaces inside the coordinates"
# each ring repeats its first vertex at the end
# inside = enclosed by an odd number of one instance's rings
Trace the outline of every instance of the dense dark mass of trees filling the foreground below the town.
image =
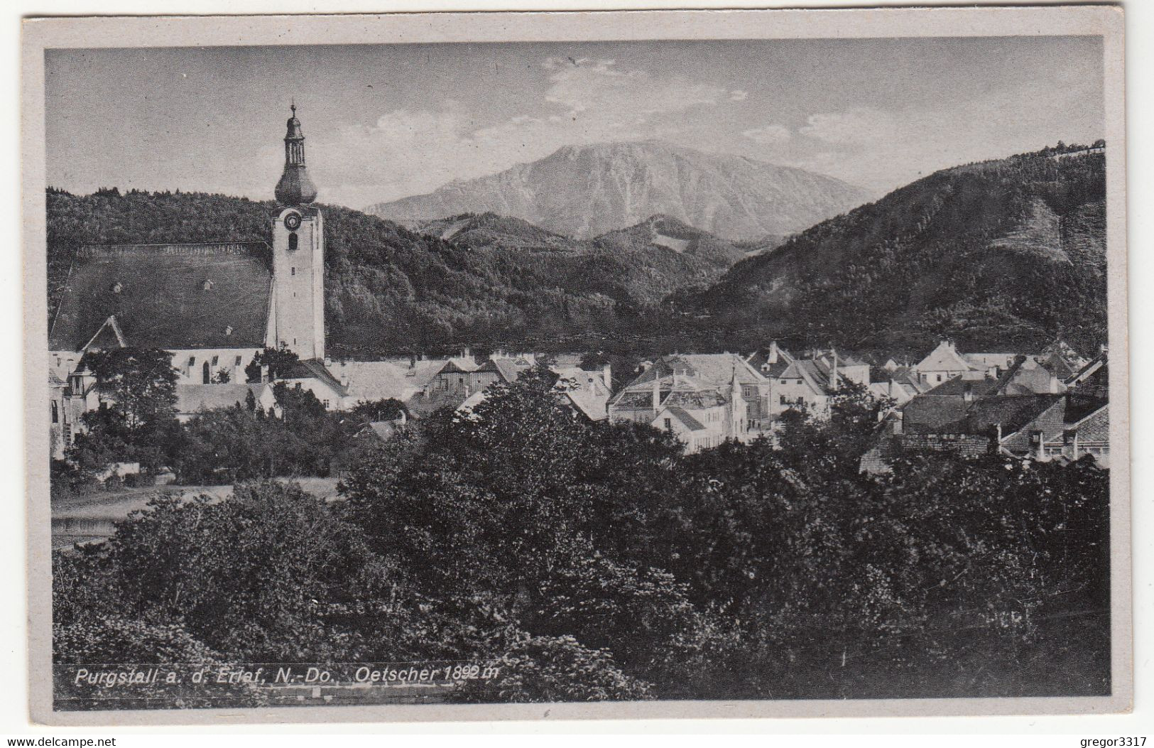
{"type": "Polygon", "coordinates": [[[790,418],[795,448],[683,456],[575,417],[553,379],[402,429],[344,501],[158,499],[58,555],[58,661],[166,631],[237,661],[500,663],[445,694],[465,701],[1109,691],[1108,474],[1088,458],[863,474],[864,392],[790,418]]]}

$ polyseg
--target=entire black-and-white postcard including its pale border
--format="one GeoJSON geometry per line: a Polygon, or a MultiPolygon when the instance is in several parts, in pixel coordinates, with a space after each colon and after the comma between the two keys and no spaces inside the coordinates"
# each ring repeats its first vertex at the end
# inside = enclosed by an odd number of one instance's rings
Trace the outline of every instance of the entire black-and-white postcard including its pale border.
{"type": "Polygon", "coordinates": [[[45,718],[1127,709],[1121,15],[988,10],[44,20],[45,718]]]}

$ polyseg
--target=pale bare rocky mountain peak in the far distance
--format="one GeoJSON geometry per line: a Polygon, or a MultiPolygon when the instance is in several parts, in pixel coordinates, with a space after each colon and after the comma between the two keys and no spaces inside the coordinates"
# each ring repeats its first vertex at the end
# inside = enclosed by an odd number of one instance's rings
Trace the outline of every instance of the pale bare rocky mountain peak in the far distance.
{"type": "Polygon", "coordinates": [[[665,216],[736,240],[801,231],[864,199],[856,187],[800,169],[637,140],[564,145],[540,160],[367,211],[407,222],[493,211],[577,238],[665,216]]]}

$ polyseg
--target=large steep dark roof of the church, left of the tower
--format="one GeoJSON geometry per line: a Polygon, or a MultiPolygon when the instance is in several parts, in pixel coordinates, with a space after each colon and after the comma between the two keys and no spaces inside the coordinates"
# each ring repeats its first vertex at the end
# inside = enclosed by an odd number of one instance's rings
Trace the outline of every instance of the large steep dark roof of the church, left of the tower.
{"type": "Polygon", "coordinates": [[[272,272],[264,242],[113,245],[76,253],[48,347],[80,351],[114,317],[125,344],[264,347],[272,272]]]}

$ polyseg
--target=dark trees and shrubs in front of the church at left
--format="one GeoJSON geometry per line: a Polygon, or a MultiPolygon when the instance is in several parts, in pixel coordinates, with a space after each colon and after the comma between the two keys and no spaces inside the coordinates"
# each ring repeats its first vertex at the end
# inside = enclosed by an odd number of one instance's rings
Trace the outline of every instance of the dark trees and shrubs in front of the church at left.
{"type": "MultiPolygon", "coordinates": [[[[404,410],[397,401],[381,401],[347,413],[329,411],[300,384],[277,382],[275,412],[267,413],[249,392],[232,407],[201,411],[180,424],[171,361],[167,351],[136,347],[84,356],[81,368],[92,372],[100,406],[84,413],[88,431],[76,435],[66,461],[53,464],[55,499],[95,489],[97,477],[115,463],[140,463],[142,474],[127,478],[134,483],[150,481],[164,468],[180,483],[201,485],[328,476],[360,427],[404,410]]],[[[262,361],[277,372],[297,356],[263,351],[249,374],[260,377],[262,361]]]]}

